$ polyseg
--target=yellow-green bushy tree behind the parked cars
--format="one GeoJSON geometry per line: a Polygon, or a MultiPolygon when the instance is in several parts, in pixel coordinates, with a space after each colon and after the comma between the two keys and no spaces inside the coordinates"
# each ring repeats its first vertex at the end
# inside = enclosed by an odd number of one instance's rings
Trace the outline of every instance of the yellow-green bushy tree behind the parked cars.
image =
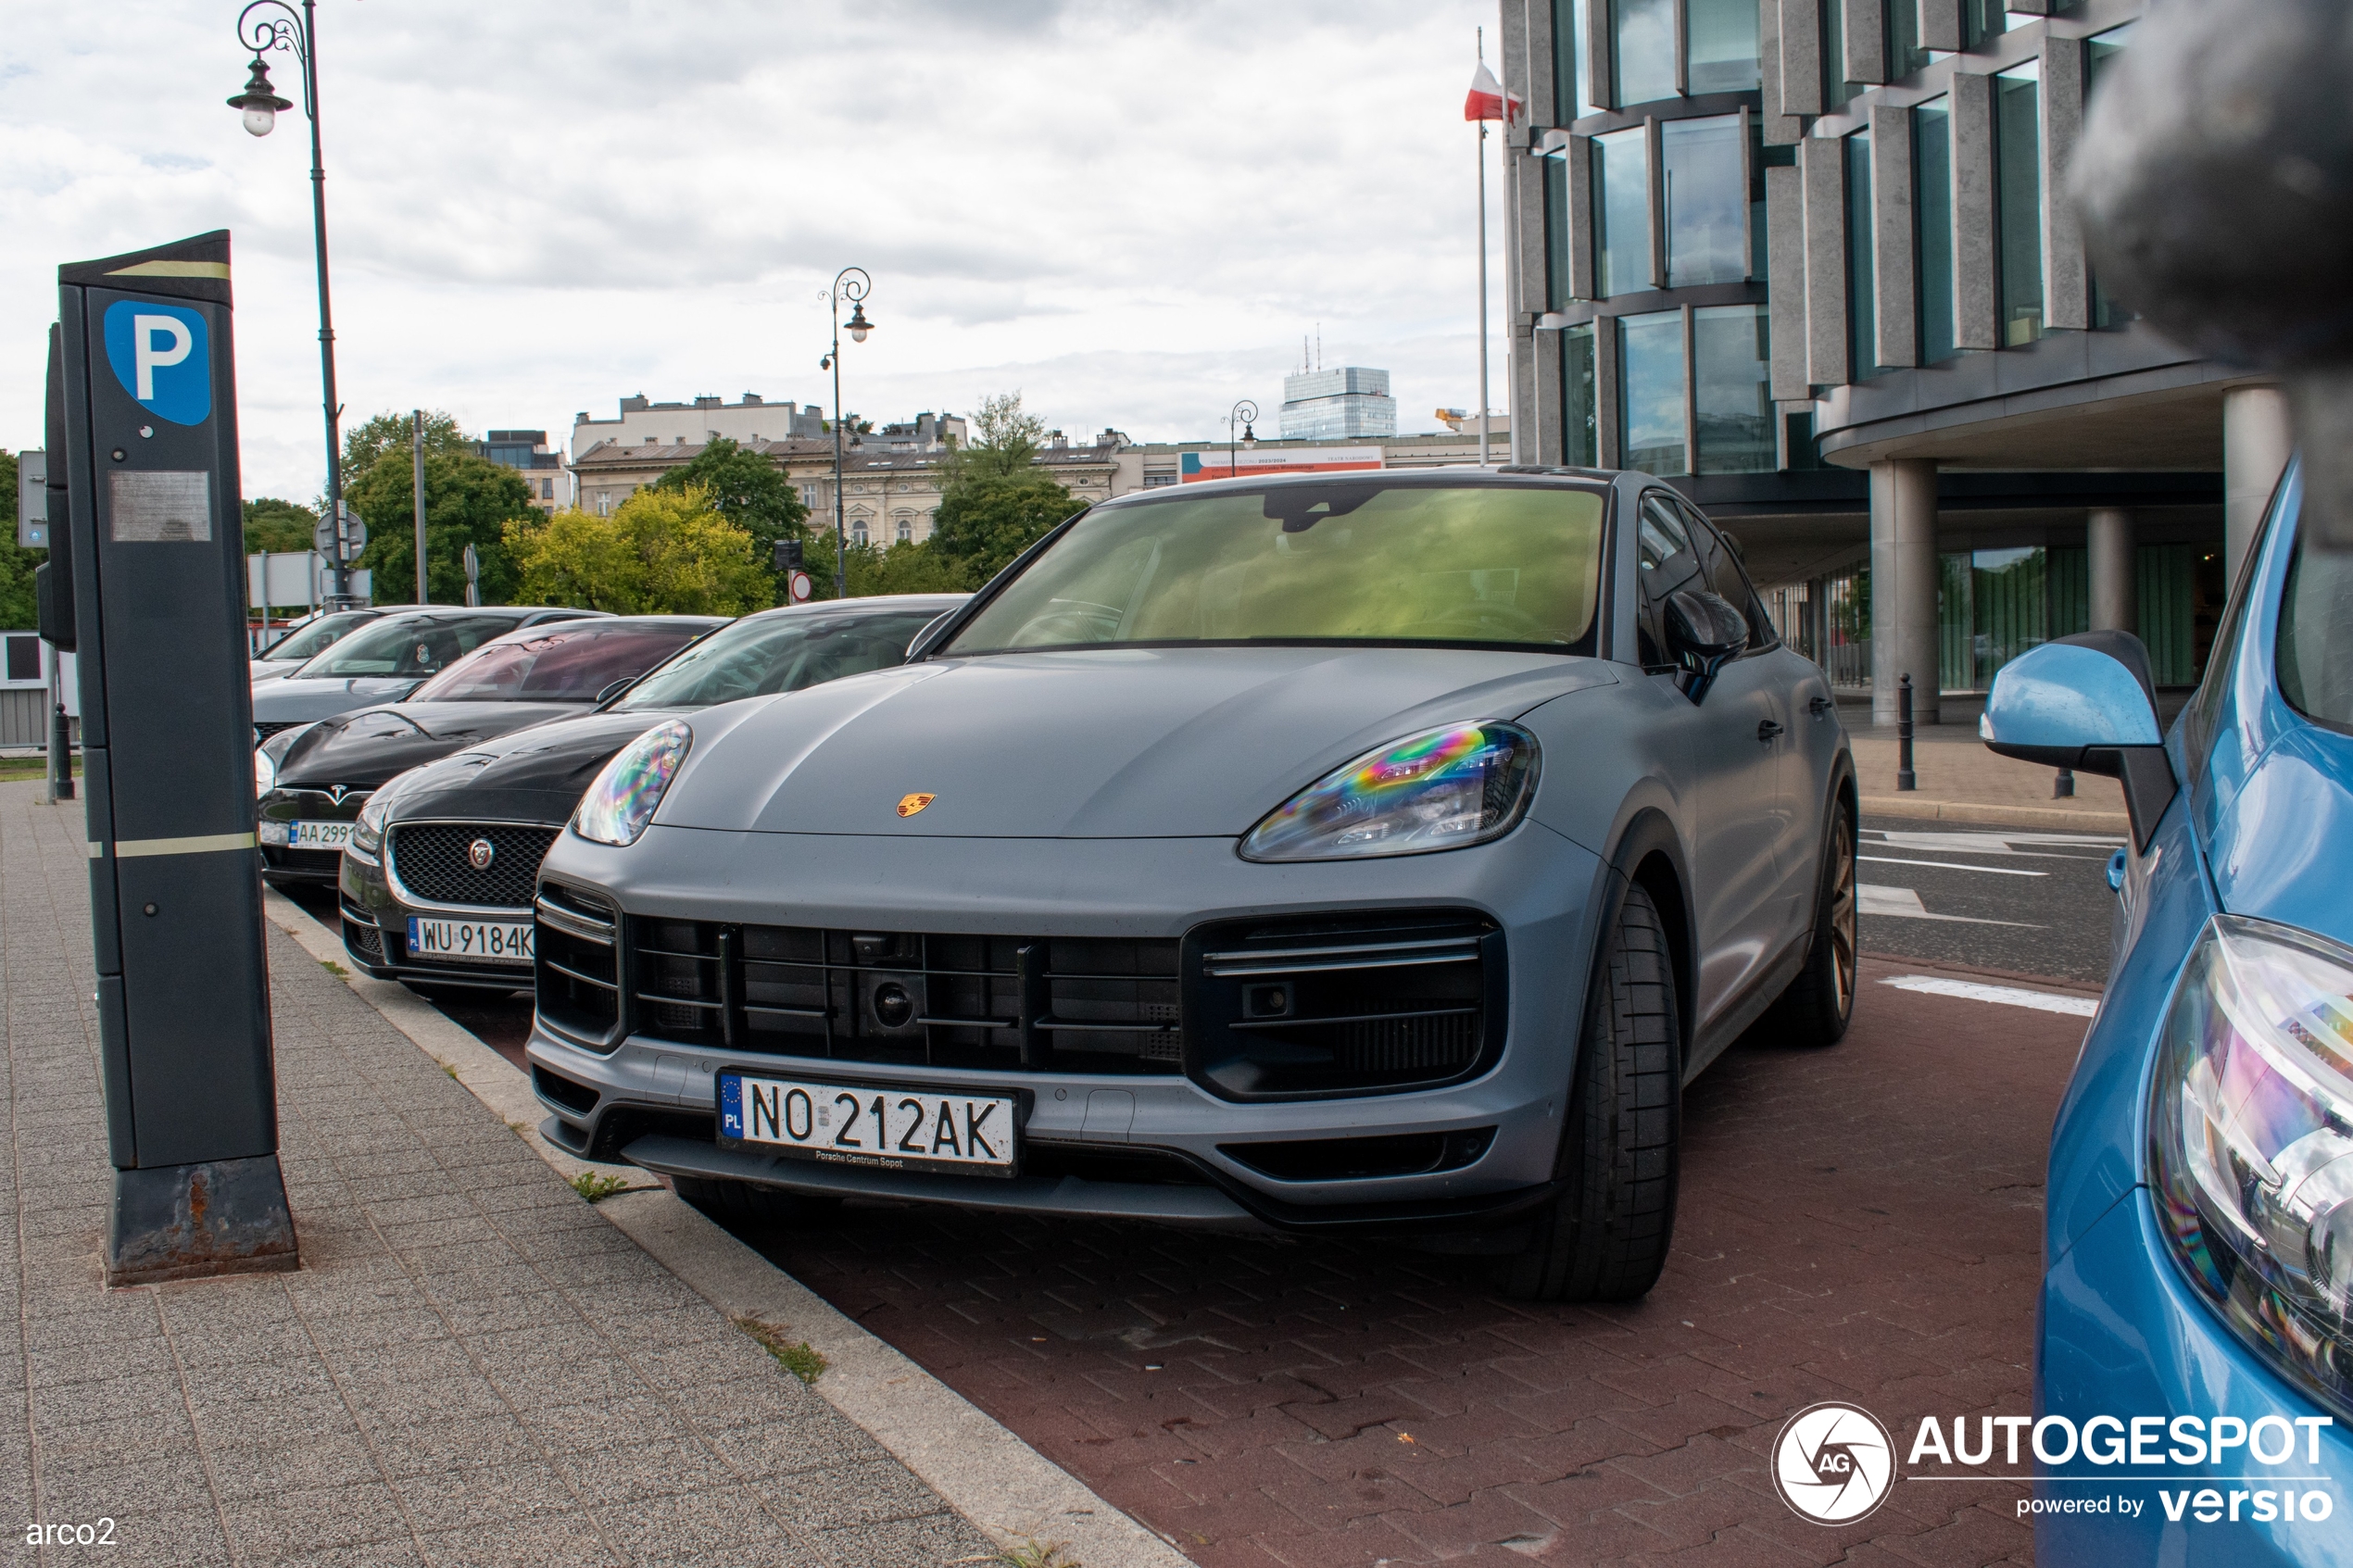
{"type": "Polygon", "coordinates": [[[741,616],[772,599],[751,534],[706,489],[640,489],[612,517],[558,512],[506,527],[522,595],[614,614],[741,616]]]}

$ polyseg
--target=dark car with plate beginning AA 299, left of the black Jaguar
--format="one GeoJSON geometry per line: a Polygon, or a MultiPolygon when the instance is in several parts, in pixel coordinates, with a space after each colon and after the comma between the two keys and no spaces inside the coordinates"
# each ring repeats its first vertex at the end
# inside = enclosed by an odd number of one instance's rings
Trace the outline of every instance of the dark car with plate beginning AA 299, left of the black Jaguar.
{"type": "MultiPolygon", "coordinates": [[[[718,616],[598,616],[485,642],[400,703],[341,712],[254,750],[261,875],[332,886],[367,799],[421,762],[584,712],[715,625],[718,616]]],[[[419,637],[414,628],[402,632],[419,637]]]]}

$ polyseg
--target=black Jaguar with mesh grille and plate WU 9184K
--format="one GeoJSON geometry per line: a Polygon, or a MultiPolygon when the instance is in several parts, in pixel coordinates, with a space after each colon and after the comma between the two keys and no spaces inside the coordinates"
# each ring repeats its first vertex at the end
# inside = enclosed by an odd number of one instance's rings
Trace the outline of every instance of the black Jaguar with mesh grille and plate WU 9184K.
{"type": "Polygon", "coordinates": [[[379,980],[428,994],[527,987],[539,860],[616,750],[713,703],[894,665],[915,632],[962,602],[892,595],[746,616],[595,712],[402,773],[376,790],[344,846],[344,950],[379,980]]]}

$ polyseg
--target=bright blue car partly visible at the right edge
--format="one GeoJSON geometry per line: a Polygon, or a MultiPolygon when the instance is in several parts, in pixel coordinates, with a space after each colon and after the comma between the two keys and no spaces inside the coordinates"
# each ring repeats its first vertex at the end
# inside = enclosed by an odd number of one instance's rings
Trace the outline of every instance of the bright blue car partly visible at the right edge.
{"type": "Polygon", "coordinates": [[[2162,741],[2122,632],[1986,703],[1998,752],[2132,806],[2035,1345],[2038,1505],[2120,1505],[2038,1512],[2045,1563],[2353,1563],[2353,555],[2301,498],[2292,465],[2162,741]]]}

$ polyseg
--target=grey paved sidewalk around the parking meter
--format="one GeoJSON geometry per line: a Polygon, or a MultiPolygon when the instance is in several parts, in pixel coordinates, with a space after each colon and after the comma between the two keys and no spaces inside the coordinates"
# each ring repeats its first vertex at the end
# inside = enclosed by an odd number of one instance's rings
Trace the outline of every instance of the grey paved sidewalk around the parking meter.
{"type": "Polygon", "coordinates": [[[106,1291],[80,806],[0,785],[0,1528],[78,1563],[988,1554],[271,931],[301,1272],[106,1291]],[[82,1540],[89,1540],[87,1535],[82,1540]]]}

